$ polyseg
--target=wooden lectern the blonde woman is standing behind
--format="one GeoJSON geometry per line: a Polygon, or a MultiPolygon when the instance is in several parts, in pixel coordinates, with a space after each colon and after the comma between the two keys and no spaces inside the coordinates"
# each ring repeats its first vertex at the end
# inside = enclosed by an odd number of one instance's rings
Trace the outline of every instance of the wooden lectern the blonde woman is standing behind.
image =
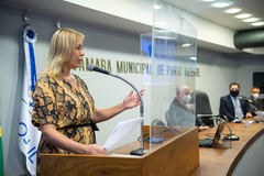
{"type": "MultiPolygon", "coordinates": [[[[155,127],[152,127],[155,128],[155,127]]],[[[157,127],[158,128],[158,127],[157,127]]],[[[42,154],[41,176],[175,176],[190,175],[199,165],[198,129],[195,127],[169,127],[180,131],[179,135],[164,128],[162,143],[144,143],[150,152],[142,156],[129,155],[140,147],[135,141],[108,152],[108,155],[42,154]]],[[[153,130],[153,129],[152,129],[153,130]]],[[[144,125],[144,134],[150,127],[144,125]]],[[[161,136],[161,135],[160,135],[161,136]]]]}

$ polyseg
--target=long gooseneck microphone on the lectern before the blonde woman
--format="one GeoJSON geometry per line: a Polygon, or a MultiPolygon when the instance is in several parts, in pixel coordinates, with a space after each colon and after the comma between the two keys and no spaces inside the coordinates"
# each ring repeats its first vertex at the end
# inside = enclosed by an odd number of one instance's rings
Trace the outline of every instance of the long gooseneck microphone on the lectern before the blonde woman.
{"type": "MultiPolygon", "coordinates": [[[[92,72],[92,70],[94,70],[94,72],[98,72],[98,73],[101,73],[101,74],[106,74],[106,75],[113,76],[113,77],[116,77],[116,78],[119,78],[119,79],[123,80],[123,81],[127,82],[128,85],[130,85],[130,86],[135,90],[135,92],[138,94],[138,96],[139,96],[139,98],[140,98],[140,101],[141,101],[141,103],[140,103],[140,113],[141,113],[141,118],[144,119],[143,100],[142,100],[142,97],[141,97],[140,91],[135,88],[134,85],[132,85],[132,84],[131,84],[130,81],[128,81],[127,79],[124,79],[124,78],[122,78],[122,77],[120,77],[120,76],[118,76],[118,75],[113,75],[113,74],[111,74],[111,73],[108,72],[108,70],[98,68],[98,67],[94,66],[92,64],[89,64],[89,65],[87,66],[87,69],[88,69],[89,72],[92,72]]],[[[130,153],[131,155],[142,156],[143,154],[150,152],[148,150],[146,150],[146,148],[143,147],[143,144],[144,144],[144,141],[143,141],[143,136],[144,136],[144,134],[143,134],[143,133],[144,133],[144,132],[143,132],[143,124],[144,124],[144,120],[142,120],[142,122],[141,122],[141,147],[140,147],[139,150],[132,151],[132,152],[130,153]]]]}

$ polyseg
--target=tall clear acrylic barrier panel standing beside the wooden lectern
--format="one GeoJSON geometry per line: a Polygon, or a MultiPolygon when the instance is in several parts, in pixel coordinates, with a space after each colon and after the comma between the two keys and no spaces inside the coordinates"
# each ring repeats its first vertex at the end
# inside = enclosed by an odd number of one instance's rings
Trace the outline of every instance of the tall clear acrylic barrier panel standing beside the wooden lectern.
{"type": "Polygon", "coordinates": [[[158,141],[164,128],[180,135],[184,127],[196,125],[195,101],[189,100],[196,89],[197,32],[175,7],[157,0],[154,7],[153,33],[141,35],[142,57],[148,61],[142,85],[150,94],[144,124],[158,141]]]}

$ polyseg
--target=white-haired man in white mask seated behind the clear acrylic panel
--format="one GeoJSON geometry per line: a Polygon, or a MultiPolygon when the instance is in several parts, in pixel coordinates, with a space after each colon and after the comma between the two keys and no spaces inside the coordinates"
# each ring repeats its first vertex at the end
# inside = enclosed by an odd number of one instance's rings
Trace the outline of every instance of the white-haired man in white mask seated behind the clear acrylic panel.
{"type": "Polygon", "coordinates": [[[176,98],[169,106],[166,112],[166,120],[168,125],[182,127],[199,127],[199,131],[207,130],[209,127],[205,125],[201,120],[197,120],[194,110],[187,103],[190,100],[190,89],[186,85],[180,85],[176,88],[176,98]]]}

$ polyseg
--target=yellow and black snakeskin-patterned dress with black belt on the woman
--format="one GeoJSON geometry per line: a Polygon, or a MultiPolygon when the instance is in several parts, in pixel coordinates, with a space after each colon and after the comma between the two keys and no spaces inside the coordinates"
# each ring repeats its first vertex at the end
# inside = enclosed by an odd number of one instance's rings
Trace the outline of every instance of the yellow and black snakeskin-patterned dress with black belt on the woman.
{"type": "MultiPolygon", "coordinates": [[[[79,91],[62,77],[42,76],[33,90],[32,123],[55,124],[58,132],[68,139],[88,145],[96,143],[95,125],[91,123],[96,107],[85,81],[75,75],[79,91]]],[[[42,136],[37,148],[37,174],[40,154],[70,154],[46,142],[42,136]]]]}

